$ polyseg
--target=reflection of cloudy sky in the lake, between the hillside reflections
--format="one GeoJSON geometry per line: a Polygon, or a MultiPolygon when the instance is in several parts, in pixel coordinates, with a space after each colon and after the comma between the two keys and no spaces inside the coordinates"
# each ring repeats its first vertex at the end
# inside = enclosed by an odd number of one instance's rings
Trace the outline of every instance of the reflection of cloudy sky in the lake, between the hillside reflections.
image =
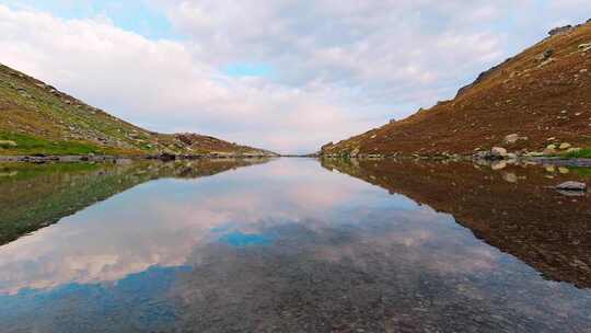
{"type": "Polygon", "coordinates": [[[152,181],[0,248],[2,332],[577,332],[589,313],[588,289],[314,160],[152,181]]]}

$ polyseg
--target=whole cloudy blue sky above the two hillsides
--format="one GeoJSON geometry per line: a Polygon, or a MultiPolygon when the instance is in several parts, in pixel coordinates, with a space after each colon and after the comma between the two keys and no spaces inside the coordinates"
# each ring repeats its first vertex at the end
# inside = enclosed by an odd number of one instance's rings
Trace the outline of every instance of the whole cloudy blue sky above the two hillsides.
{"type": "Polygon", "coordinates": [[[589,0],[0,0],[0,62],[150,130],[304,153],[588,19],[589,0]]]}

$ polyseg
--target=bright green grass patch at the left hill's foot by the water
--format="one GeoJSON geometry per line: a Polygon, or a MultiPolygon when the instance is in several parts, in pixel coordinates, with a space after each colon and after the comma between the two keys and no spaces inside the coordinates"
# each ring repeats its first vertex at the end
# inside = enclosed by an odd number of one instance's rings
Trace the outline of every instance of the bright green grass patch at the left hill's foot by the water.
{"type": "Polygon", "coordinates": [[[23,134],[0,133],[0,140],[16,142],[16,147],[1,146],[0,154],[101,154],[104,151],[93,145],[79,141],[51,141],[23,134]]]}

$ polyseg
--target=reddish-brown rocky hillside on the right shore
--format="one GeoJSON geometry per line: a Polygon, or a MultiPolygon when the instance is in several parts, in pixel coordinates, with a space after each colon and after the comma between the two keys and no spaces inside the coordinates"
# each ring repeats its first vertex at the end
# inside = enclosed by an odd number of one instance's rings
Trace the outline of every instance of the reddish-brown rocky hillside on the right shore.
{"type": "Polygon", "coordinates": [[[482,73],[452,101],[325,145],[322,153],[473,154],[493,147],[518,154],[591,152],[586,150],[591,147],[591,22],[552,31],[482,73]]]}

